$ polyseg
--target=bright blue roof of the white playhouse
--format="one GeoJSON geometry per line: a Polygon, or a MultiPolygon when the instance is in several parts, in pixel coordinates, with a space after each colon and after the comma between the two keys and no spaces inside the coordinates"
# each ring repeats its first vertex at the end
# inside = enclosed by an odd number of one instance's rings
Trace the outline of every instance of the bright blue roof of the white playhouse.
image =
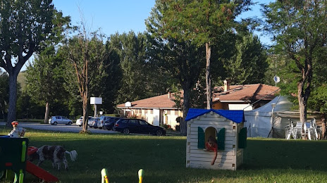
{"type": "Polygon", "coordinates": [[[204,115],[206,113],[210,113],[213,111],[214,113],[217,113],[218,115],[221,115],[228,120],[232,120],[233,122],[240,123],[244,122],[244,111],[239,110],[216,110],[216,109],[202,109],[202,108],[190,108],[188,110],[188,113],[186,115],[185,121],[192,120],[194,118],[197,118],[200,115],[204,115]]]}

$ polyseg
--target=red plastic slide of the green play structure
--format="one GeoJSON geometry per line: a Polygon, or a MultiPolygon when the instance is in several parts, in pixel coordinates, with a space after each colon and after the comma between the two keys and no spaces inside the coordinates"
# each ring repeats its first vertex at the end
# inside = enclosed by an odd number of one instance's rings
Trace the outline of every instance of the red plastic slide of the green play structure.
{"type": "MultiPolygon", "coordinates": [[[[27,149],[27,155],[30,155],[35,151],[37,151],[36,147],[29,146],[27,149]]],[[[26,172],[29,172],[30,174],[35,175],[40,179],[43,179],[45,182],[59,182],[59,179],[57,177],[54,177],[54,175],[51,175],[46,170],[39,168],[37,165],[31,163],[29,160],[26,160],[26,172]]]]}

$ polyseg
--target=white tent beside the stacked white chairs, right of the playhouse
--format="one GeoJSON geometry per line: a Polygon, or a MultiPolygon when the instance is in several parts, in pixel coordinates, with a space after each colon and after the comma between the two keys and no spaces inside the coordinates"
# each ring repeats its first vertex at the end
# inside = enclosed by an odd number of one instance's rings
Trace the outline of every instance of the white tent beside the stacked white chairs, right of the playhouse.
{"type": "Polygon", "coordinates": [[[285,137],[285,126],[290,120],[281,114],[288,113],[291,107],[292,102],[285,96],[276,96],[260,108],[244,111],[247,137],[285,137]]]}

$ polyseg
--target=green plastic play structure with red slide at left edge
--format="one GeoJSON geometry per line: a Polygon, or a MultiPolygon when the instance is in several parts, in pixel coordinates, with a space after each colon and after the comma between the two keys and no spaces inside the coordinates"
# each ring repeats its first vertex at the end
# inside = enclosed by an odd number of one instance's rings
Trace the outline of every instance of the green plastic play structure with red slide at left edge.
{"type": "Polygon", "coordinates": [[[37,151],[35,147],[27,147],[27,138],[0,136],[0,179],[4,177],[22,183],[25,172],[29,172],[44,182],[59,182],[57,177],[26,160],[27,155],[37,151]]]}

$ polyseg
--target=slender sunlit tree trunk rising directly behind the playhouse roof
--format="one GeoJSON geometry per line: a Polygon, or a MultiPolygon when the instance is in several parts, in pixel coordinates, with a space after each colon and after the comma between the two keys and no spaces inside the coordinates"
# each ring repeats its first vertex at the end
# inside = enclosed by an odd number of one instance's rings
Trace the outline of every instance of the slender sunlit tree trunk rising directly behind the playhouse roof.
{"type": "Polygon", "coordinates": [[[210,73],[211,46],[206,43],[206,108],[212,108],[211,73],[210,73]]]}

